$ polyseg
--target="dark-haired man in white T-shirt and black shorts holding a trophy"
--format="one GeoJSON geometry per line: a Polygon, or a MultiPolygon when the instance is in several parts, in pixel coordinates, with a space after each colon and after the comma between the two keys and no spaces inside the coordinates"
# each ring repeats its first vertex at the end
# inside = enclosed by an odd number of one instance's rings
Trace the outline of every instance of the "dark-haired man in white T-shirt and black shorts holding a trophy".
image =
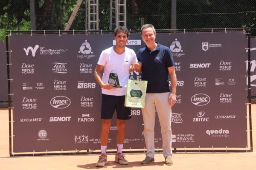
{"type": "Polygon", "coordinates": [[[119,164],[127,165],[128,161],[122,154],[123,141],[125,138],[125,121],[131,119],[131,108],[125,107],[126,85],[130,72],[140,69],[141,63],[138,63],[135,52],[125,47],[128,40],[128,30],[125,27],[115,29],[114,40],[116,45],[105,49],[99,57],[99,61],[94,71],[94,76],[102,88],[102,111],[101,111],[101,156],[96,163],[96,167],[104,167],[107,160],[108,130],[111,125],[113,113],[116,110],[117,116],[117,153],[115,161],[119,164]],[[103,76],[101,75],[102,70],[103,76]],[[111,75],[113,84],[118,84],[122,88],[114,87],[109,84],[111,75]],[[116,75],[118,78],[116,78],[116,75]]]}

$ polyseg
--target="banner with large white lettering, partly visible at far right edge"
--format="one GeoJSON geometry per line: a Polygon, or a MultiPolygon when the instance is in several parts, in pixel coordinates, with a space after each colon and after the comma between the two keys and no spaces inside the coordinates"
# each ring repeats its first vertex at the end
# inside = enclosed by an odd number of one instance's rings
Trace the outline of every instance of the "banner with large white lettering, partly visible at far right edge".
{"type": "MultiPolygon", "coordinates": [[[[251,72],[251,96],[256,96],[256,37],[250,39],[251,48],[251,62],[250,62],[250,72],[251,72]]],[[[248,50],[246,50],[248,52],[248,50]]],[[[248,62],[248,59],[246,60],[248,62]]],[[[246,63],[246,71],[248,71],[248,65],[246,63]]],[[[248,78],[247,78],[248,79],[248,78]]],[[[248,80],[247,80],[248,85],[248,80]]]]}

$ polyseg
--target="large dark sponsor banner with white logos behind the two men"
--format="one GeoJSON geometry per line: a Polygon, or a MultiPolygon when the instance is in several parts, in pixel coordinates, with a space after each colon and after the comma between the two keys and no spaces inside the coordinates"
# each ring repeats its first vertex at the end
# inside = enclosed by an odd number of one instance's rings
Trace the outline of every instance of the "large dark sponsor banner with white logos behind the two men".
{"type": "MultiPolygon", "coordinates": [[[[246,34],[158,33],[156,40],[172,51],[178,79],[172,146],[247,147],[246,34]]],[[[93,71],[113,44],[113,34],[10,37],[15,153],[100,148],[101,89],[93,71]]],[[[129,36],[136,53],[144,45],[140,34],[129,36]]],[[[124,148],[143,149],[142,113],[131,112],[124,148]]],[[[113,119],[108,149],[116,148],[116,128],[113,119]]],[[[155,147],[162,147],[157,116],[155,147]]]]}

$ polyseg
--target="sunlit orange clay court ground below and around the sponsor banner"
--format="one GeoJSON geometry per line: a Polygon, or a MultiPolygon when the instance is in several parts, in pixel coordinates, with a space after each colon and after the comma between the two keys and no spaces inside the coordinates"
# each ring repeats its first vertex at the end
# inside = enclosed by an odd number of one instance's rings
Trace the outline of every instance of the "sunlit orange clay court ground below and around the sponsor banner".
{"type": "MultiPolygon", "coordinates": [[[[252,105],[252,127],[256,129],[256,104],[252,105]]],[[[0,170],[83,170],[99,169],[95,163],[98,154],[63,156],[9,157],[8,110],[0,109],[0,170]]],[[[253,131],[254,132],[254,131],[253,131]]],[[[239,135],[239,134],[238,134],[239,135]]],[[[161,153],[155,155],[155,162],[140,165],[145,158],[142,153],[125,154],[128,165],[114,162],[114,154],[108,154],[108,164],[102,169],[133,170],[256,170],[256,134],[253,133],[253,151],[243,153],[174,153],[174,165],[164,164],[161,153]]]]}

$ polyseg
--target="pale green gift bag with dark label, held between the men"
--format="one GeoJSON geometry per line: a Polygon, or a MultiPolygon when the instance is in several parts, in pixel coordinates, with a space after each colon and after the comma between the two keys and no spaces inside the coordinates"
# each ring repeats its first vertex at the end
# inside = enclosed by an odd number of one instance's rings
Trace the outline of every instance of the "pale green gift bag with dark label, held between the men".
{"type": "Polygon", "coordinates": [[[148,81],[128,79],[125,95],[125,107],[144,108],[147,85],[148,81]]]}

